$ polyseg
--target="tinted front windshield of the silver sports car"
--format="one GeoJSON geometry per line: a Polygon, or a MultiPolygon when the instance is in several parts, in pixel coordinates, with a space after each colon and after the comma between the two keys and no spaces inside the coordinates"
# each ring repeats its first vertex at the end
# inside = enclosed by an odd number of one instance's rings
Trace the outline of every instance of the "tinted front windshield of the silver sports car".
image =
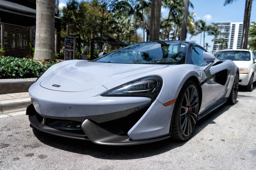
{"type": "Polygon", "coordinates": [[[95,62],[129,64],[184,64],[187,44],[182,42],[143,42],[119,49],[95,62]]]}

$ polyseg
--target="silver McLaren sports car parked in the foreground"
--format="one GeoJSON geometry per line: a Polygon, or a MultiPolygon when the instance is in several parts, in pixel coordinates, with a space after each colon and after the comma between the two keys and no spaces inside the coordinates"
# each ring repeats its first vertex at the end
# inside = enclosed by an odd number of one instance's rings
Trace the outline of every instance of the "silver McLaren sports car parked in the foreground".
{"type": "Polygon", "coordinates": [[[239,69],[187,41],[142,42],[53,65],[29,88],[38,130],[96,144],[185,141],[198,119],[235,104],[239,69]]]}

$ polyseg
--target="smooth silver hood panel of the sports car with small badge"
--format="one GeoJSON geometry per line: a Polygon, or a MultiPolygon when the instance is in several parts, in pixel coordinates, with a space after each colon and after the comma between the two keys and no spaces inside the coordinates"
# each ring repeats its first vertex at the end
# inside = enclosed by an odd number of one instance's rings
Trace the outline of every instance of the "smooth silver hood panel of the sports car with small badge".
{"type": "Polygon", "coordinates": [[[166,66],[168,65],[75,62],[52,72],[42,80],[40,85],[55,91],[86,91],[125,77],[156,71],[166,66]]]}

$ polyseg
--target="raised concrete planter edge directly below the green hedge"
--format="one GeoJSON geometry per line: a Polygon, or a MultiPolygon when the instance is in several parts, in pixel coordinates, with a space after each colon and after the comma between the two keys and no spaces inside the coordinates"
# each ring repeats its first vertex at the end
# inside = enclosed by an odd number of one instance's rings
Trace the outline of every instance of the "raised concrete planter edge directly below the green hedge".
{"type": "Polygon", "coordinates": [[[0,79],[0,94],[27,92],[36,79],[0,79]]]}

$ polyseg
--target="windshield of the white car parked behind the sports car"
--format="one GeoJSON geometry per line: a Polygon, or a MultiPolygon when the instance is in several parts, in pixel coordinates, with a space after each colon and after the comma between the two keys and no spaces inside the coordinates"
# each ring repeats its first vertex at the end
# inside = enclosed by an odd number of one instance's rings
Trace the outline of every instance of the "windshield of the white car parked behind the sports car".
{"type": "Polygon", "coordinates": [[[250,61],[249,51],[219,51],[214,54],[217,59],[231,59],[237,61],[250,61]]]}

